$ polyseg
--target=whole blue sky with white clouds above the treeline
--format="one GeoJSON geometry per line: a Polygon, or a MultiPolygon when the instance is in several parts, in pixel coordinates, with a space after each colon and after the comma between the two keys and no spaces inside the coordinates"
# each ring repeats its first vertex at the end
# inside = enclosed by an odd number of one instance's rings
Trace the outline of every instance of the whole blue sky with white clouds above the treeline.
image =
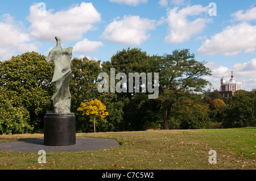
{"type": "Polygon", "coordinates": [[[73,57],[108,61],[118,50],[147,54],[190,49],[213,70],[214,89],[234,71],[256,88],[256,1],[0,0],[0,60],[32,50],[48,55],[61,37],[73,57]]]}

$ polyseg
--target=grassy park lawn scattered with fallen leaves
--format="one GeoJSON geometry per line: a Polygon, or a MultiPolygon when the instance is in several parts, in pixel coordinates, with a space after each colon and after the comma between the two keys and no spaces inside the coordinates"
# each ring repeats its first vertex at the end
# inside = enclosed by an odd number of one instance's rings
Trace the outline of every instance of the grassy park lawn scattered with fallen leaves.
{"type": "MultiPolygon", "coordinates": [[[[113,138],[120,146],[97,151],[38,153],[0,150],[0,169],[122,169],[122,170],[256,170],[256,128],[149,130],[77,133],[77,137],[113,138]],[[209,163],[216,150],[217,163],[209,163]]],[[[43,137],[43,134],[0,135],[0,142],[43,137]]]]}

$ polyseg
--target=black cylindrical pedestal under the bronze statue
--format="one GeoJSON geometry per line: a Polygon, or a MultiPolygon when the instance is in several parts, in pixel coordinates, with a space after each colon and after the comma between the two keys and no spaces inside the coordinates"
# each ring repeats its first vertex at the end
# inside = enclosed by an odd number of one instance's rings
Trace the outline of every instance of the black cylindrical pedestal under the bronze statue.
{"type": "Polygon", "coordinates": [[[44,116],[44,145],[70,146],[75,144],[75,113],[46,113],[44,116]]]}

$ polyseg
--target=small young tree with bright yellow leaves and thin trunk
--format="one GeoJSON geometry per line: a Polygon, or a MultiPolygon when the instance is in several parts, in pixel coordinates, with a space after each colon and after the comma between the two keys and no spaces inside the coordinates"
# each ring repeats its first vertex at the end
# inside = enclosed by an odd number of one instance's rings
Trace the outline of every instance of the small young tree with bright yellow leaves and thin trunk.
{"type": "Polygon", "coordinates": [[[80,107],[77,108],[77,111],[81,111],[82,116],[93,117],[94,133],[96,133],[95,121],[104,119],[104,117],[109,115],[109,113],[106,112],[106,106],[102,104],[101,101],[98,99],[85,100],[85,102],[81,103],[80,107]],[[95,120],[95,118],[98,118],[98,119],[95,120]]]}

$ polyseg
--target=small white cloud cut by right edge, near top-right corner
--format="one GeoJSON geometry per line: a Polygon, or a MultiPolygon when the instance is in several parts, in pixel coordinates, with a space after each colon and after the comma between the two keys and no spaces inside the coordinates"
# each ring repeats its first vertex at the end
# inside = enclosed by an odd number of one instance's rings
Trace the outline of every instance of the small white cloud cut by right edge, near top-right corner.
{"type": "Polygon", "coordinates": [[[234,16],[234,19],[238,21],[256,20],[256,7],[246,10],[245,13],[243,13],[243,10],[239,10],[232,14],[232,16],[234,16]]]}

